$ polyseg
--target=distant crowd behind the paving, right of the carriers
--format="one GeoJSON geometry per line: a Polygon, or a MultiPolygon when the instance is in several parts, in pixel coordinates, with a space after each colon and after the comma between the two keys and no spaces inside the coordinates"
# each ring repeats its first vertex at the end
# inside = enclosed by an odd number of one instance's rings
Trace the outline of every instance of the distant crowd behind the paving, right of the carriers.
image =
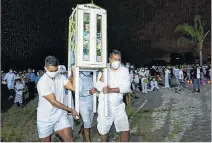
{"type": "Polygon", "coordinates": [[[211,66],[199,64],[194,65],[176,65],[176,66],[152,66],[135,68],[126,64],[129,68],[132,91],[159,90],[158,84],[163,88],[172,88],[180,86],[189,81],[193,83],[193,92],[200,92],[200,85],[207,83],[211,79],[211,66]]]}

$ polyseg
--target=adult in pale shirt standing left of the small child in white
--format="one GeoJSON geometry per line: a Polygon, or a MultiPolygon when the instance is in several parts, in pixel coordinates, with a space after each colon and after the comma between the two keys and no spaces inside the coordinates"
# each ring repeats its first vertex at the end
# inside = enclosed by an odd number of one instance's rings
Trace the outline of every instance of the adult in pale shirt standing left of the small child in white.
{"type": "Polygon", "coordinates": [[[9,72],[4,76],[4,81],[7,82],[7,88],[9,90],[9,99],[13,98],[15,78],[16,76],[12,69],[10,69],[9,72]]]}

